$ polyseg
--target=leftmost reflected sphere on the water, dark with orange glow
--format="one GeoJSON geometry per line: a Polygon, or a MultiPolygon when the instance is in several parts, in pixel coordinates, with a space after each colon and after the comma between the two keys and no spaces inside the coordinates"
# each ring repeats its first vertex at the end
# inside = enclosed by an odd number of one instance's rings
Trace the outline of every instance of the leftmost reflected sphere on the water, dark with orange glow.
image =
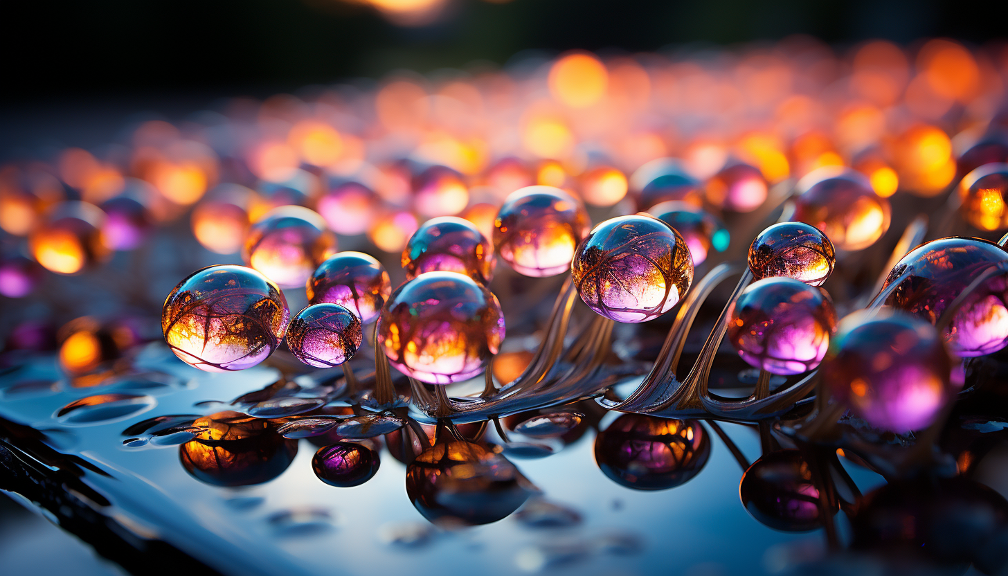
{"type": "Polygon", "coordinates": [[[198,419],[201,432],[178,447],[182,467],[193,477],[215,486],[248,486],[279,476],[297,455],[297,441],[276,427],[237,412],[198,419]]]}

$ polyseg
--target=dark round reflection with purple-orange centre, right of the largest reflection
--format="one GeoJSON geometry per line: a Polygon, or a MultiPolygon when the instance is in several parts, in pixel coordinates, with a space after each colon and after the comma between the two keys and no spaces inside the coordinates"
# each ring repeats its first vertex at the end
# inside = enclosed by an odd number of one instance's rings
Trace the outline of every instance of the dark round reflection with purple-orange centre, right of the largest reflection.
{"type": "Polygon", "coordinates": [[[663,490],[700,473],[711,439],[696,420],[625,414],[595,437],[595,462],[617,484],[663,490]]]}

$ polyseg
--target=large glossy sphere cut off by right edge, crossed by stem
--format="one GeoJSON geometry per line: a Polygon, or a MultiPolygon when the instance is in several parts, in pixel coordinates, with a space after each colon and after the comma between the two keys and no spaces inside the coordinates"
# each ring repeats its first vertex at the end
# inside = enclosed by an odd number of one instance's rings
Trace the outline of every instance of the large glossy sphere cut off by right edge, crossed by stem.
{"type": "MultiPolygon", "coordinates": [[[[889,272],[885,285],[899,282],[885,305],[937,326],[949,305],[978,275],[1008,260],[1003,248],[980,238],[941,238],[903,256],[889,272]]],[[[957,356],[983,356],[1008,343],[1008,292],[1005,275],[979,286],[953,316],[941,335],[957,356]]]]}

